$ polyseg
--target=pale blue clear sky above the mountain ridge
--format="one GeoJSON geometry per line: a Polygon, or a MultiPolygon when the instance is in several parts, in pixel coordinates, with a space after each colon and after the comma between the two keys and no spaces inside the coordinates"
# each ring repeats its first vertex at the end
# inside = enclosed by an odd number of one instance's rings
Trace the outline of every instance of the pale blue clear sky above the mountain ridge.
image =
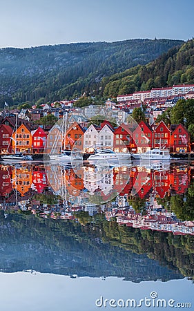
{"type": "Polygon", "coordinates": [[[0,0],[0,48],[191,39],[193,0],[0,0]]]}

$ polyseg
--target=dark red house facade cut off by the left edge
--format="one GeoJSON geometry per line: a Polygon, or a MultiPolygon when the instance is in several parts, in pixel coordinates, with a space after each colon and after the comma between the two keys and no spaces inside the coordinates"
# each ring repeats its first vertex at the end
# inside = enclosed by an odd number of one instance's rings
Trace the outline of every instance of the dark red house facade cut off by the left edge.
{"type": "Polygon", "coordinates": [[[9,125],[0,125],[0,153],[10,153],[12,151],[12,128],[9,125]]]}

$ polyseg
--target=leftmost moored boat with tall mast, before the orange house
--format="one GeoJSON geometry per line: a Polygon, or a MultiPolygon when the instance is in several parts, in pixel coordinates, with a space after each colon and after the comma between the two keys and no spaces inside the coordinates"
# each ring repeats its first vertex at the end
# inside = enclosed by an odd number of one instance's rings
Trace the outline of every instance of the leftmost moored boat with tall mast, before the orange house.
{"type": "MultiPolygon", "coordinates": [[[[14,133],[14,129],[13,129],[13,133],[14,133]]],[[[10,137],[10,140],[14,140],[14,138],[10,137]]],[[[14,163],[14,162],[33,160],[32,156],[23,155],[23,153],[17,152],[17,115],[16,115],[16,121],[15,121],[15,140],[14,140],[14,142],[15,142],[14,153],[5,154],[5,155],[1,156],[1,159],[3,161],[6,161],[6,162],[8,161],[8,162],[14,163]]]]}

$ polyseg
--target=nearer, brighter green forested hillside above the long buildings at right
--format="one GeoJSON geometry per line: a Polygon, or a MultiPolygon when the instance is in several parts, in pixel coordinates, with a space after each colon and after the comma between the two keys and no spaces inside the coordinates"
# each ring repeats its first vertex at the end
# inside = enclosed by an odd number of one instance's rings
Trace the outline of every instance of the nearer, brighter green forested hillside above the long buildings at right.
{"type": "Polygon", "coordinates": [[[101,93],[116,97],[134,91],[147,91],[173,84],[194,84],[194,40],[180,47],[173,47],[153,62],[135,66],[122,73],[105,77],[101,81],[101,93]]]}

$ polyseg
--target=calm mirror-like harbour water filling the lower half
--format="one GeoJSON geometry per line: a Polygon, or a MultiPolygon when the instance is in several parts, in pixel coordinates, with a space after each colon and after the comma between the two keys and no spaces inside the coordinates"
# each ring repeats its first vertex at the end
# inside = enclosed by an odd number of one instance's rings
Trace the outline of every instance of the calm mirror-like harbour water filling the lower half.
{"type": "Polygon", "coordinates": [[[1,164],[0,195],[2,310],[194,303],[191,165],[1,164]]]}

